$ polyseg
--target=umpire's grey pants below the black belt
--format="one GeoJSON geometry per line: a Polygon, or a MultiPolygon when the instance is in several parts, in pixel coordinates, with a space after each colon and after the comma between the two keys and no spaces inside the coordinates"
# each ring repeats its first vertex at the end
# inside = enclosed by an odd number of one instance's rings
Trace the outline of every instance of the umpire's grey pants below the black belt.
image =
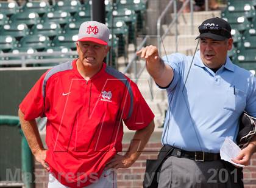
{"type": "Polygon", "coordinates": [[[241,170],[222,160],[199,162],[170,156],[162,165],[158,188],[240,188],[241,170]]]}

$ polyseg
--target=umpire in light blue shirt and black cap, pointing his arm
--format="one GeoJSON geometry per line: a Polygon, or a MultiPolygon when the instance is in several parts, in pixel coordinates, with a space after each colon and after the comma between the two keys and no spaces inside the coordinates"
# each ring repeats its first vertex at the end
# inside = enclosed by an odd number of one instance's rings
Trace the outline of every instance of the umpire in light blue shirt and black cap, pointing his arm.
{"type": "MultiPolygon", "coordinates": [[[[207,19],[199,32],[194,59],[180,53],[160,58],[152,45],[137,52],[168,93],[162,143],[174,149],[162,164],[158,187],[243,187],[243,169],[222,161],[219,149],[227,136],[236,140],[244,111],[256,117],[256,78],[227,56],[233,44],[228,22],[207,19]]],[[[235,163],[249,164],[255,140],[235,163]]]]}

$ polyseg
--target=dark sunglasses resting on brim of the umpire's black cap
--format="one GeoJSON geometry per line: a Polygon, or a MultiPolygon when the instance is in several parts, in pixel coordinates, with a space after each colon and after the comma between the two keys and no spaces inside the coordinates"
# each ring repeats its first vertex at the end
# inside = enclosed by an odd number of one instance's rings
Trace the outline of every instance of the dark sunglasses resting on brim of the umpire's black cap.
{"type": "Polygon", "coordinates": [[[230,32],[223,28],[223,27],[219,27],[219,26],[208,26],[208,25],[200,25],[198,27],[199,29],[199,33],[202,34],[202,33],[213,33],[213,34],[216,34],[216,35],[221,35],[221,36],[225,36],[226,38],[231,38],[231,34],[230,32]]]}

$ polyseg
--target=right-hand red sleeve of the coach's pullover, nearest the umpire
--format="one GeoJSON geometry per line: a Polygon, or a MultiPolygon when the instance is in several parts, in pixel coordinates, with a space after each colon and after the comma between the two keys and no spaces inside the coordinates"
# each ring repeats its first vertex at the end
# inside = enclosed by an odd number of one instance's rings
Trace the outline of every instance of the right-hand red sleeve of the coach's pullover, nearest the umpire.
{"type": "MultiPolygon", "coordinates": [[[[130,80],[129,80],[130,81],[130,80]]],[[[149,108],[137,85],[130,81],[129,95],[124,99],[123,121],[130,130],[140,130],[147,127],[154,119],[154,113],[149,108]]]]}

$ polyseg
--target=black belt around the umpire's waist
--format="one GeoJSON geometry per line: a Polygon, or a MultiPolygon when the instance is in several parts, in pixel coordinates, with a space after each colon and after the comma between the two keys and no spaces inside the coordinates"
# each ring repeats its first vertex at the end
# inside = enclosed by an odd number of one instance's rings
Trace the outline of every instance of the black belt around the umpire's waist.
{"type": "Polygon", "coordinates": [[[207,152],[188,152],[182,149],[174,147],[171,156],[177,156],[182,158],[193,159],[194,161],[216,161],[221,159],[219,153],[207,153],[207,152]]]}

